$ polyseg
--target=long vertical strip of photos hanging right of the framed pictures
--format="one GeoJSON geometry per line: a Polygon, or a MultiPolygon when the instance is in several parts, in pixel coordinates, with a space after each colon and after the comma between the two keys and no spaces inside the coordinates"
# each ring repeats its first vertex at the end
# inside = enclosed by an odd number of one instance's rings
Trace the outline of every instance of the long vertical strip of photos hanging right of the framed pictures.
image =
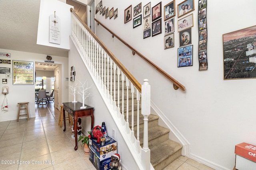
{"type": "Polygon", "coordinates": [[[199,27],[199,70],[207,70],[207,25],[206,25],[207,0],[198,1],[198,27],[199,27]]]}

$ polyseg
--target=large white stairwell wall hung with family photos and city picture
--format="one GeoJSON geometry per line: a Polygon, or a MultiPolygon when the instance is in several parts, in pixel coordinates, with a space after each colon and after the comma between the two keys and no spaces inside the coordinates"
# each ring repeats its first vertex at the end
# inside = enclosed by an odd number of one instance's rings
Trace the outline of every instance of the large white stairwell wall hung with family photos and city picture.
{"type": "MultiPolygon", "coordinates": [[[[100,0],[96,0],[98,4],[100,0]]],[[[96,25],[96,34],[134,74],[139,82],[148,78],[151,84],[152,101],[165,114],[167,119],[189,141],[190,156],[215,169],[232,169],[235,164],[235,145],[247,142],[256,145],[255,79],[223,80],[222,34],[256,25],[252,11],[255,0],[234,2],[231,0],[208,0],[208,70],[198,71],[198,0],[195,0],[194,27],[192,27],[193,66],[177,67],[178,18],[175,20],[175,47],[164,50],[164,26],[162,34],[143,39],[143,26],[133,29],[132,21],[124,24],[124,10],[142,1],[103,0],[106,8],[118,8],[118,18],[105,19],[95,15],[127,43],[138,49],[148,59],[176,78],[186,87],[186,91],[174,90],[172,83],[146,64],[102,26],[96,25]]],[[[151,2],[151,7],[159,0],[143,1],[142,6],[151,2]]],[[[170,1],[162,0],[163,7],[170,1]]],[[[176,0],[177,4],[183,0],[176,0]]],[[[190,13],[190,14],[192,14],[190,13]]],[[[143,16],[143,15],[142,15],[143,16]]],[[[133,20],[133,17],[132,17],[133,20]]]]}

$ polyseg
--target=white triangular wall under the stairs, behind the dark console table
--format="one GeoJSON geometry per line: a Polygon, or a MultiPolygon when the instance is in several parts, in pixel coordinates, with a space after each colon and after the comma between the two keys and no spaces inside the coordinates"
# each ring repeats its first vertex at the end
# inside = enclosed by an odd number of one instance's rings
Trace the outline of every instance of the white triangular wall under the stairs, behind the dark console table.
{"type": "MultiPolygon", "coordinates": [[[[94,107],[94,127],[96,125],[102,125],[102,122],[104,121],[106,123],[106,128],[107,128],[107,132],[108,135],[110,137],[112,137],[112,129],[116,130],[116,138],[113,138],[114,140],[117,141],[117,152],[118,154],[120,154],[121,156],[121,162],[122,162],[122,167],[125,170],[135,170],[137,169],[136,163],[134,162],[134,160],[132,159],[132,156],[127,148],[127,146],[125,145],[124,140],[122,139],[122,136],[120,134],[120,132],[118,131],[118,128],[116,127],[116,125],[114,124],[114,121],[106,107],[106,105],[104,104],[104,101],[102,99],[102,97],[100,96],[100,93],[98,92],[96,86],[94,85],[94,82],[92,80],[92,78],[90,77],[90,74],[88,72],[88,70],[85,68],[85,65],[81,59],[81,57],[79,56],[78,51],[75,49],[74,44],[72,43],[72,41],[70,40],[70,51],[68,53],[69,56],[69,71],[71,66],[75,66],[75,71],[76,71],[76,76],[75,76],[75,81],[74,82],[70,82],[69,81],[69,85],[70,86],[76,86],[76,84],[78,83],[79,86],[79,82],[77,80],[79,80],[80,82],[84,83],[85,81],[88,82],[88,85],[92,87],[90,88],[90,92],[92,93],[92,96],[90,96],[89,98],[87,98],[85,100],[85,104],[91,107],[94,107]],[[125,168],[124,168],[125,167],[125,168]]],[[[71,90],[69,90],[69,92],[71,92],[71,90]]],[[[69,102],[72,102],[74,100],[74,96],[72,94],[69,94],[69,102]]],[[[78,94],[76,95],[76,100],[78,102],[82,103],[82,97],[78,94]]],[[[87,132],[91,130],[91,119],[90,117],[83,117],[82,118],[82,131],[87,132]]]]}

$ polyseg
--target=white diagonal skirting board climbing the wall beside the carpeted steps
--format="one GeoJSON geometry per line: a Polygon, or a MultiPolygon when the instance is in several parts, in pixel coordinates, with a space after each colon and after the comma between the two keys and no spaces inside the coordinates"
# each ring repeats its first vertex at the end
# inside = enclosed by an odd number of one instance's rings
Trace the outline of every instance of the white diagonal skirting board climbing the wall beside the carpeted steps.
{"type": "Polygon", "coordinates": [[[190,153],[190,143],[180,133],[180,131],[172,124],[172,122],[166,117],[166,115],[151,101],[151,107],[154,109],[159,118],[166,124],[170,131],[175,135],[178,141],[182,144],[182,156],[186,156],[190,153]]]}

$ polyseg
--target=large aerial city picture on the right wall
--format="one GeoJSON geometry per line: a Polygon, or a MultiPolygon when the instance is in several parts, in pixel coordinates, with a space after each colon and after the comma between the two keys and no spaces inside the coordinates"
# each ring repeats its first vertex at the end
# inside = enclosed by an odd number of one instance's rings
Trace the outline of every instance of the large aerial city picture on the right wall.
{"type": "Polygon", "coordinates": [[[256,78],[256,25],[223,34],[224,80],[256,78]]]}

